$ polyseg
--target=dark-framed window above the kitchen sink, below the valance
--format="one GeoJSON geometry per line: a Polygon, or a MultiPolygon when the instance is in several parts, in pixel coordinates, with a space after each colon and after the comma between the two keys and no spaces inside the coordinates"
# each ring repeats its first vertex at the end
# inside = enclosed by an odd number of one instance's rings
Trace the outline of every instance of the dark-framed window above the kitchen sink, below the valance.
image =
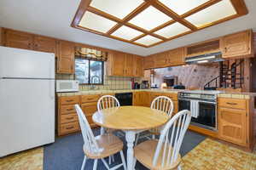
{"type": "Polygon", "coordinates": [[[89,59],[75,59],[75,75],[80,84],[103,84],[104,63],[89,59]]]}

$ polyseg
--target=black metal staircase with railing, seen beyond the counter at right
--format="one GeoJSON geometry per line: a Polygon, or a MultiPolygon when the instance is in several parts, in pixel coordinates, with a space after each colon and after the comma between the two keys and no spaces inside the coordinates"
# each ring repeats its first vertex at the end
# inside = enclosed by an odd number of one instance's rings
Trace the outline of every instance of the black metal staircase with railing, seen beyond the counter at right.
{"type": "Polygon", "coordinates": [[[207,82],[204,88],[241,88],[243,83],[243,59],[226,60],[219,62],[219,76],[207,82]]]}

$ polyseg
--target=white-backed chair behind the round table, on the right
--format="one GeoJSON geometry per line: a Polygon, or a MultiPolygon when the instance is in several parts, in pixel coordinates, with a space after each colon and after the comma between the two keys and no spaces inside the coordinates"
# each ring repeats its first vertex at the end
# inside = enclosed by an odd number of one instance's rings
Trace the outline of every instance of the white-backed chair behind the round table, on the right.
{"type": "MultiPolygon", "coordinates": [[[[164,111],[170,118],[172,117],[172,112],[174,109],[172,99],[166,96],[156,97],[152,101],[150,108],[158,111],[164,111]]],[[[161,127],[148,130],[149,133],[152,134],[153,139],[155,138],[155,135],[160,135],[160,128],[161,127]]],[[[135,144],[137,144],[138,139],[140,139],[140,133],[137,133],[135,144]]]]}

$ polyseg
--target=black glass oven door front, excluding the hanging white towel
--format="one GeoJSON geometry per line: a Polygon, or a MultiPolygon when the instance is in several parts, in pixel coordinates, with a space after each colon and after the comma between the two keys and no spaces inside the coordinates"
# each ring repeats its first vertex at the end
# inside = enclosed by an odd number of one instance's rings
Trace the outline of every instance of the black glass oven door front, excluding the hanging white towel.
{"type": "MultiPolygon", "coordinates": [[[[193,99],[178,99],[178,108],[179,111],[189,110],[191,100],[193,99]]],[[[217,105],[215,101],[207,101],[207,100],[198,100],[198,116],[191,117],[191,124],[207,128],[209,130],[217,130],[217,116],[216,116],[216,109],[217,105]]]]}

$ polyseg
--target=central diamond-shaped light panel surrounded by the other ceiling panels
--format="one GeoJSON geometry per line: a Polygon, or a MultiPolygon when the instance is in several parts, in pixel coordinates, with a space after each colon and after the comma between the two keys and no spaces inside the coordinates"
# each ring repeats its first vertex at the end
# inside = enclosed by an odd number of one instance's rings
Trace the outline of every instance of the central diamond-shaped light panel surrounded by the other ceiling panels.
{"type": "Polygon", "coordinates": [[[166,23],[169,20],[172,20],[172,18],[160,12],[160,10],[149,6],[143,10],[143,12],[137,14],[137,16],[131,19],[129,22],[135,26],[139,26],[149,31],[166,23]]]}

